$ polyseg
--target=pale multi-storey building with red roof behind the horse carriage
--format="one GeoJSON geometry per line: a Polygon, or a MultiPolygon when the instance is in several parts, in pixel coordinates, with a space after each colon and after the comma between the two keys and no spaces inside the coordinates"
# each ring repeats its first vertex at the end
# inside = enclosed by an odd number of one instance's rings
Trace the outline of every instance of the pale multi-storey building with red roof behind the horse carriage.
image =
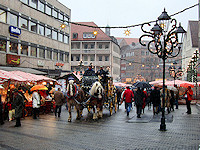
{"type": "Polygon", "coordinates": [[[84,71],[92,63],[95,72],[103,66],[104,69],[109,68],[109,73],[114,79],[119,78],[120,47],[117,40],[99,28],[88,27],[97,27],[94,22],[79,22],[79,24],[86,26],[71,25],[72,71],[84,71]],[[97,35],[93,34],[94,31],[97,31],[97,35]],[[80,61],[83,61],[83,66],[80,66],[80,61]]]}

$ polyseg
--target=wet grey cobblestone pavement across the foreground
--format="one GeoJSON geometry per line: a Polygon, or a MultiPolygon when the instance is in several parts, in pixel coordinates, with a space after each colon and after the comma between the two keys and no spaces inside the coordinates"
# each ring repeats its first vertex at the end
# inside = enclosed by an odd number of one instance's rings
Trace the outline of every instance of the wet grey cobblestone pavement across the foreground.
{"type": "MultiPolygon", "coordinates": [[[[200,145],[200,110],[192,106],[187,115],[186,106],[172,112],[166,120],[167,131],[159,131],[160,116],[153,117],[152,110],[138,120],[135,108],[126,116],[124,106],[113,116],[104,111],[103,118],[93,121],[87,110],[83,119],[67,122],[68,113],[63,107],[60,118],[54,114],[22,119],[22,127],[15,128],[15,121],[0,126],[0,149],[11,150],[198,150],[200,145]]],[[[167,117],[166,117],[167,118],[167,117]]]]}

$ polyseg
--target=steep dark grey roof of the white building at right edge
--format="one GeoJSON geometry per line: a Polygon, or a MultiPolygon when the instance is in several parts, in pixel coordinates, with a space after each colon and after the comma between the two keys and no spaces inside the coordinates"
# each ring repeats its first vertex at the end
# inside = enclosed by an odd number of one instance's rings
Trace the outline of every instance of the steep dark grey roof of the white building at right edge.
{"type": "Polygon", "coordinates": [[[192,47],[198,47],[198,21],[189,21],[191,39],[192,39],[192,47]]]}

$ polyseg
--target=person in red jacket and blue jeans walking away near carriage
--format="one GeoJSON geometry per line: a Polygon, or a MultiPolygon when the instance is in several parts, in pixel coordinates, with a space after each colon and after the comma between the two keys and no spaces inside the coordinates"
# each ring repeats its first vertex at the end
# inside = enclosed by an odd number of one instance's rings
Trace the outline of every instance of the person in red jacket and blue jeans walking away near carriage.
{"type": "Polygon", "coordinates": [[[129,112],[131,111],[133,98],[134,98],[133,91],[130,90],[130,87],[127,87],[123,93],[122,100],[121,100],[121,104],[122,104],[123,99],[125,99],[127,116],[129,116],[129,112]]]}

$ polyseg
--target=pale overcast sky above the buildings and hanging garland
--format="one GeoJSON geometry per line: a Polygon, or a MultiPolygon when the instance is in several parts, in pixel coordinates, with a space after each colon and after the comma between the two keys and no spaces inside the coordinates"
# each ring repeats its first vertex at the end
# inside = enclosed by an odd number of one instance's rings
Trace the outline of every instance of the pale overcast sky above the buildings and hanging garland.
{"type": "MultiPolygon", "coordinates": [[[[98,26],[129,26],[153,21],[160,16],[164,8],[168,15],[177,13],[198,3],[198,0],[58,0],[71,9],[72,22],[91,22],[98,26]]],[[[185,30],[189,20],[198,20],[198,6],[175,15],[185,30]]],[[[152,24],[153,25],[153,24],[152,24]]],[[[104,31],[104,29],[102,29],[104,31]]],[[[130,28],[130,36],[125,36],[126,29],[111,29],[116,37],[139,38],[143,33],[140,27],[130,28]]]]}

